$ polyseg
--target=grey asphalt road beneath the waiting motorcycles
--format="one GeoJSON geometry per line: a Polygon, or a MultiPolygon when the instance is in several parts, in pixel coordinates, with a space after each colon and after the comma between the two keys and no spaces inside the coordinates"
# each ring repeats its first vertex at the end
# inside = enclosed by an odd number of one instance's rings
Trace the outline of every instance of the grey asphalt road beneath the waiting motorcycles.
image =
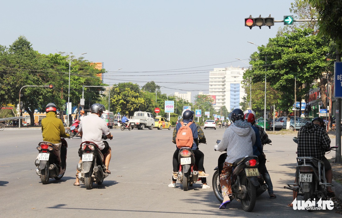
{"type": "MultiPolygon", "coordinates": [[[[204,130],[208,144],[200,144],[205,154],[204,166],[208,184],[220,152],[213,146],[225,128],[204,130]]],[[[271,175],[276,199],[267,192],[257,198],[251,213],[242,210],[237,201],[228,209],[219,210],[220,203],[211,189],[194,184],[189,191],[169,188],[172,155],[172,130],[121,131],[112,129],[115,140],[109,141],[112,158],[109,175],[102,185],[86,190],[76,187],[77,150],[81,139],[67,139],[67,169],[61,180],[50,179],[43,185],[35,172],[40,129],[0,131],[0,217],[337,217],[334,210],[307,212],[287,207],[292,192],[283,187],[294,180],[296,144],[293,136],[269,134],[272,145],[266,145],[267,169],[271,175]]],[[[334,145],[332,140],[331,146],[334,145]]],[[[328,154],[331,158],[333,154],[328,154]]]]}

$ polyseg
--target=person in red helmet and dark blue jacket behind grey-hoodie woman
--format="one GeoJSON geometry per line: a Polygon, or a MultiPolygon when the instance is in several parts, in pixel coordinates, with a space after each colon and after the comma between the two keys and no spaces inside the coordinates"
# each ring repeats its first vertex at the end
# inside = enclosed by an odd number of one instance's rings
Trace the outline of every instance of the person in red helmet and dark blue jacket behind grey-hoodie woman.
{"type": "MultiPolygon", "coordinates": [[[[245,114],[245,120],[248,123],[254,123],[255,122],[255,116],[253,113],[246,113],[245,114]]],[[[254,132],[255,132],[255,137],[256,141],[253,144],[253,155],[258,156],[259,159],[259,166],[258,170],[260,174],[264,177],[265,183],[267,185],[267,192],[269,194],[269,198],[275,199],[277,196],[273,193],[273,184],[271,181],[271,177],[269,176],[269,173],[266,168],[266,155],[263,152],[263,148],[261,145],[261,140],[260,140],[260,131],[257,127],[252,126],[254,132]]]]}

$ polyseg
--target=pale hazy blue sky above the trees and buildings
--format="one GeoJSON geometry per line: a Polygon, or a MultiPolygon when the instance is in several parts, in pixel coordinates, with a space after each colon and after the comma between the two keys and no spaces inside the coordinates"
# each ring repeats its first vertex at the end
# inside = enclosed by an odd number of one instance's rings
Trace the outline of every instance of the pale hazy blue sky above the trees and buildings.
{"type": "Polygon", "coordinates": [[[249,62],[255,45],[267,44],[284,26],[249,29],[246,17],[291,15],[291,1],[274,0],[12,0],[1,6],[3,46],[22,35],[42,54],[87,52],[85,60],[104,63],[106,84],[153,80],[162,93],[191,91],[192,97],[209,93],[210,70],[248,66],[236,58],[249,62]]]}

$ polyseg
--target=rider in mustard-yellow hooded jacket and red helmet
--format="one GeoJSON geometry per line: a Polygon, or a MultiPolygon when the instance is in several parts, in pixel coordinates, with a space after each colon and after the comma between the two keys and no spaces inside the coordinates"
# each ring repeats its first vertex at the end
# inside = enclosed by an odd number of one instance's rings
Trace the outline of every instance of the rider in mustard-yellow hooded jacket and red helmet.
{"type": "MultiPolygon", "coordinates": [[[[54,103],[49,103],[45,107],[46,117],[41,120],[43,141],[51,142],[58,147],[58,159],[61,160],[61,137],[68,138],[70,135],[65,133],[65,128],[61,119],[57,118],[57,108],[54,103]]],[[[61,169],[60,169],[61,170],[61,169]]]]}

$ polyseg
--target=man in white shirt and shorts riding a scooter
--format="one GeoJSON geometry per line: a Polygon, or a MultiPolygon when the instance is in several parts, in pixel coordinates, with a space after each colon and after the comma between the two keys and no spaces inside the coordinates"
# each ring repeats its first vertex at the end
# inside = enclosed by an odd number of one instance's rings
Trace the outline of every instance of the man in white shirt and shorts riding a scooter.
{"type": "MultiPolygon", "coordinates": [[[[113,139],[113,135],[109,132],[106,122],[101,118],[103,111],[105,111],[105,106],[102,104],[95,103],[91,105],[91,114],[85,116],[80,124],[79,124],[79,133],[82,137],[82,142],[90,141],[98,145],[98,148],[101,150],[101,153],[104,157],[104,163],[106,165],[105,172],[110,174],[108,170],[109,162],[111,158],[111,148],[109,147],[106,141],[102,141],[102,134],[105,134],[110,140],[113,139]]],[[[79,163],[82,162],[81,158],[81,148],[78,151],[78,155],[80,156],[79,163]]],[[[76,181],[74,185],[79,186],[78,173],[76,174],[76,181]]]]}

